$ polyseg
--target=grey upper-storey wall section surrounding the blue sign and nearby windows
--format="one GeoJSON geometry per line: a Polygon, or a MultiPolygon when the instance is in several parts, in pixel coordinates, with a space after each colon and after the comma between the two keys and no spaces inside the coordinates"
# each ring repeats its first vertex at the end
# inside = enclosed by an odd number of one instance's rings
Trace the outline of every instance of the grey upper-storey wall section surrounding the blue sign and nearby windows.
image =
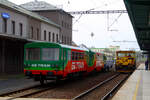
{"type": "Polygon", "coordinates": [[[27,16],[23,15],[23,14],[20,14],[20,13],[17,13],[15,11],[12,11],[12,10],[9,10],[8,8],[3,8],[3,7],[0,7],[0,32],[1,33],[4,33],[4,30],[3,30],[3,18],[2,18],[2,15],[1,13],[8,13],[10,15],[10,18],[7,19],[7,33],[5,34],[13,34],[12,33],[12,21],[15,22],[15,34],[16,36],[20,36],[20,26],[19,24],[22,23],[22,36],[21,37],[27,37],[27,26],[28,26],[28,19],[27,19],[27,16]]]}

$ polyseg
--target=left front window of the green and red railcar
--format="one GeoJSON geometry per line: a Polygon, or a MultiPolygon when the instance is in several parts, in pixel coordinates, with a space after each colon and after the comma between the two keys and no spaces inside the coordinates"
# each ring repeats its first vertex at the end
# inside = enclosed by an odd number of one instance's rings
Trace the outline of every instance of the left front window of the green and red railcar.
{"type": "Polygon", "coordinates": [[[40,48],[27,48],[26,60],[40,60],[40,48]]]}

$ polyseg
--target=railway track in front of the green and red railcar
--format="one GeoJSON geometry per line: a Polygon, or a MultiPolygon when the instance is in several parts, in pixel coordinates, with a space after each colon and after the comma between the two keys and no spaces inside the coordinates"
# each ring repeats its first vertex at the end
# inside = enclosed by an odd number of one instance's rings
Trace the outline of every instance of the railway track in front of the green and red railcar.
{"type": "Polygon", "coordinates": [[[41,93],[41,92],[53,89],[55,87],[56,87],[56,83],[51,82],[43,86],[37,85],[37,86],[33,86],[33,87],[29,87],[29,88],[25,88],[25,89],[13,91],[13,92],[1,94],[0,97],[11,97],[11,99],[25,98],[25,97],[28,97],[37,93],[41,93]]]}

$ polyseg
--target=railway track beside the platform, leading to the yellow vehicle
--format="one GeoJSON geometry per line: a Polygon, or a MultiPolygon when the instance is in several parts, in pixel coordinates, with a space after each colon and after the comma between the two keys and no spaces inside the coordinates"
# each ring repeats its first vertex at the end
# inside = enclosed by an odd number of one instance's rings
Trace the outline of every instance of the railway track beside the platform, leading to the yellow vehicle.
{"type": "Polygon", "coordinates": [[[85,92],[75,96],[74,98],[72,98],[72,100],[107,100],[111,96],[111,94],[122,84],[122,82],[124,82],[128,78],[128,76],[129,74],[120,73],[113,75],[112,77],[104,80],[103,82],[100,82],[99,84],[86,90],[85,92]],[[111,89],[108,89],[108,86],[112,85],[112,83],[113,86],[111,86],[111,89]],[[103,93],[104,91],[105,93],[103,93]],[[98,94],[98,92],[101,93],[98,94]]]}

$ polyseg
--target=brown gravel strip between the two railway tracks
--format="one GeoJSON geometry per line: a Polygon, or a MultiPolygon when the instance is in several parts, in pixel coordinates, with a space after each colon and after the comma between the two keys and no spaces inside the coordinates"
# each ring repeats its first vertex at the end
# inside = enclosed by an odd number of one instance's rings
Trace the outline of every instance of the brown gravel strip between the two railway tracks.
{"type": "Polygon", "coordinates": [[[60,82],[57,88],[30,96],[30,98],[71,99],[114,74],[116,73],[99,73],[83,79],[60,82]]]}

